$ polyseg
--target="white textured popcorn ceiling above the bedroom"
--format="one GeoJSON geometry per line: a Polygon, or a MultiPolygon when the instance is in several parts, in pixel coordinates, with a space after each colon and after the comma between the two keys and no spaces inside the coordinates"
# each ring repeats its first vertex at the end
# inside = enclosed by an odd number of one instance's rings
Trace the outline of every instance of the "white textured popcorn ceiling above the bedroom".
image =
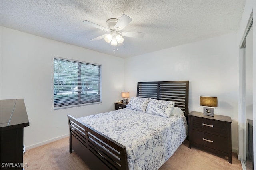
{"type": "Polygon", "coordinates": [[[132,57],[236,32],[245,1],[23,1],[1,0],[1,26],[73,44],[117,57],[132,57]],[[84,20],[106,26],[109,18],[132,18],[124,31],[144,32],[144,38],[124,37],[119,51],[104,39],[106,34],[84,20]]]}

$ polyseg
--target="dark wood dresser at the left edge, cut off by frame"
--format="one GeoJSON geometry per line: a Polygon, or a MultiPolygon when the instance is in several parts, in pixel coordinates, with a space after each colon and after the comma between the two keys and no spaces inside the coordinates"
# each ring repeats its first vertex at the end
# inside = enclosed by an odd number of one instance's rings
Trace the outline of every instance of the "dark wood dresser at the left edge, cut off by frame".
{"type": "Polygon", "coordinates": [[[23,128],[29,126],[23,99],[0,100],[1,170],[22,170],[23,128]]]}

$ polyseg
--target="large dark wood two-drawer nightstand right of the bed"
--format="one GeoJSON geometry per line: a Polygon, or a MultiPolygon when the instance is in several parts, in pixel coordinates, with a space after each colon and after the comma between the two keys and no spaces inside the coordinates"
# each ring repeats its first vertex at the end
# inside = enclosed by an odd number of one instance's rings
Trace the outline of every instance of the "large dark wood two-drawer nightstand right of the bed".
{"type": "Polygon", "coordinates": [[[232,163],[231,117],[206,116],[192,111],[188,114],[188,147],[196,146],[210,152],[228,156],[232,163]]]}

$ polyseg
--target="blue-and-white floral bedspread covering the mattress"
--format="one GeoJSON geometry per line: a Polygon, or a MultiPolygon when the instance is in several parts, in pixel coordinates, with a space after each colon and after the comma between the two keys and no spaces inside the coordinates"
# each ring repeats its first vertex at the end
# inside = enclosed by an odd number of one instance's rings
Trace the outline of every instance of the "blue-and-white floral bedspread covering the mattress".
{"type": "Polygon", "coordinates": [[[130,170],[157,170],[182,144],[187,135],[186,117],[169,118],[132,109],[78,118],[126,146],[130,170]]]}

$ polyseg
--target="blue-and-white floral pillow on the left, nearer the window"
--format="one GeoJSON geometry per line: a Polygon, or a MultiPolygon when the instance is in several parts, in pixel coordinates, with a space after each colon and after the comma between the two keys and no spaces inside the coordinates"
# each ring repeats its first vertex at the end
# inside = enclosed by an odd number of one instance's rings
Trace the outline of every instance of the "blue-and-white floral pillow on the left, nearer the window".
{"type": "Polygon", "coordinates": [[[132,97],[126,108],[145,112],[149,101],[150,98],[132,97]]]}

